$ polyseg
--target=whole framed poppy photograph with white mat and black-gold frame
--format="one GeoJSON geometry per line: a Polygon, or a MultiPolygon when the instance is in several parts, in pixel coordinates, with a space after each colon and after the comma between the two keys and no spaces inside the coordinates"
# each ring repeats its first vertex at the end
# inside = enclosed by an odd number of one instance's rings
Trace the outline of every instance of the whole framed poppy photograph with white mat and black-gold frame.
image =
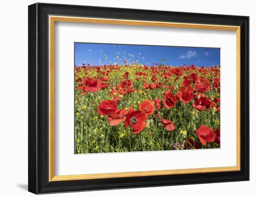
{"type": "Polygon", "coordinates": [[[249,180],[249,17],[28,6],[28,191],[249,180]]]}

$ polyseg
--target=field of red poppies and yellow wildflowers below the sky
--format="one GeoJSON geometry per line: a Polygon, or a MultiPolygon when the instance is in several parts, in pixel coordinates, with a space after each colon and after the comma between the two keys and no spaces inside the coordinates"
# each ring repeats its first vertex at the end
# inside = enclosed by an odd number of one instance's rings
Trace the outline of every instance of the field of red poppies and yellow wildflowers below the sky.
{"type": "Polygon", "coordinates": [[[220,147],[220,67],[75,66],[75,153],[220,147]]]}

